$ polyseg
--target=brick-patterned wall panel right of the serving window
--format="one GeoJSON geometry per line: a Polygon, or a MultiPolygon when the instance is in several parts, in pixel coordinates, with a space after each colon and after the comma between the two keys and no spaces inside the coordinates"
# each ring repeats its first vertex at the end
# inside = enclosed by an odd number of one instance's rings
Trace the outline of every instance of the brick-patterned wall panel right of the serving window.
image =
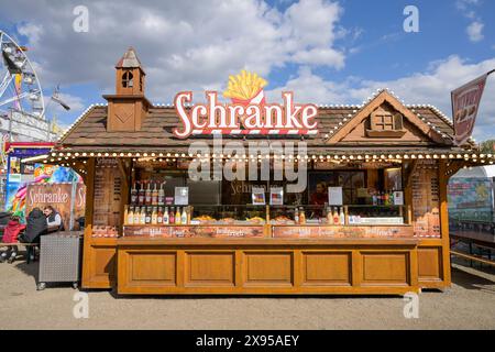
{"type": "Polygon", "coordinates": [[[415,235],[440,238],[438,161],[422,160],[417,163],[411,176],[415,235]]]}

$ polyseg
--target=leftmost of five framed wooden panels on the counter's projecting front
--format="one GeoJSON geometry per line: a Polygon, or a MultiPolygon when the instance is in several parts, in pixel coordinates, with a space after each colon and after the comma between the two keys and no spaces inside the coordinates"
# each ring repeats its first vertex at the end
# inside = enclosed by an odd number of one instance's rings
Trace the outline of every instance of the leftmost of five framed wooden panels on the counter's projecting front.
{"type": "Polygon", "coordinates": [[[141,284],[176,284],[176,253],[131,252],[129,256],[130,280],[141,284]]]}

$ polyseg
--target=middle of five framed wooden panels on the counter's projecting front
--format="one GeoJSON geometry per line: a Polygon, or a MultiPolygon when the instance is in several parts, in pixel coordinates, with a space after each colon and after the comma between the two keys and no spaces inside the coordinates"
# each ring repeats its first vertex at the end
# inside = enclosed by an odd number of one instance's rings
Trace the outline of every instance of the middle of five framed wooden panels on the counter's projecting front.
{"type": "Polygon", "coordinates": [[[244,252],[244,285],[292,286],[293,252],[244,252]]]}

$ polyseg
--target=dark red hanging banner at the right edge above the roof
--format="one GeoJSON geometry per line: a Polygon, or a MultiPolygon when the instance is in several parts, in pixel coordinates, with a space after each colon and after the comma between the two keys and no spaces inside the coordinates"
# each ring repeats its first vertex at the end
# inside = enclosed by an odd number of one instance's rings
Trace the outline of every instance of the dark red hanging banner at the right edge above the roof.
{"type": "Polygon", "coordinates": [[[455,130],[454,142],[464,144],[473,133],[480,101],[490,73],[452,91],[452,117],[455,130]]]}

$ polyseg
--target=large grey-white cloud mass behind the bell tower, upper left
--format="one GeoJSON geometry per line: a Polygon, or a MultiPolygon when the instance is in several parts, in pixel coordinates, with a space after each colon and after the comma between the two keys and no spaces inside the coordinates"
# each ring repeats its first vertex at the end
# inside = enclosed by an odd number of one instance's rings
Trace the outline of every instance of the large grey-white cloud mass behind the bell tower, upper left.
{"type": "Polygon", "coordinates": [[[300,0],[285,11],[258,0],[99,0],[86,4],[88,33],[73,31],[78,4],[19,0],[2,7],[0,22],[20,23],[30,37],[44,86],[96,82],[111,92],[111,68],[130,45],[146,70],[152,101],[170,101],[183,89],[220,88],[242,68],[266,76],[287,64],[345,64],[334,46],[342,8],[330,0],[300,0]]]}

